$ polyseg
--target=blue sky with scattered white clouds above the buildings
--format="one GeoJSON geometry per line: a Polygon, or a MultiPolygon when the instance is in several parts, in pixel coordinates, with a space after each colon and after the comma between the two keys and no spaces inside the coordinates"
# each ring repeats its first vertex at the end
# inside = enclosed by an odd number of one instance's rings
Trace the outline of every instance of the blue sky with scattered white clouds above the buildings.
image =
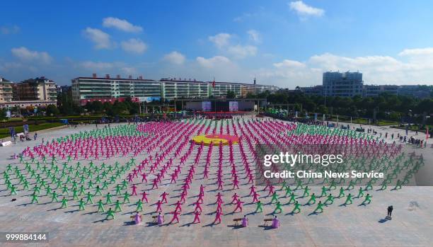
{"type": "Polygon", "coordinates": [[[2,1],[0,76],[433,84],[432,1],[2,1]]]}

